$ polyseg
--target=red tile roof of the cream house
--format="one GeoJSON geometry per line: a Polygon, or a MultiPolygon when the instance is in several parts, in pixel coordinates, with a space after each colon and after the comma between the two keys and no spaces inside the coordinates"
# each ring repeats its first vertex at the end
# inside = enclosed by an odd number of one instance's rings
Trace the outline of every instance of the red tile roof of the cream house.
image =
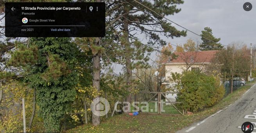
{"type": "Polygon", "coordinates": [[[174,52],[175,59],[168,62],[167,59],[164,63],[209,63],[215,57],[217,50],[213,51],[194,51],[194,52],[174,52]]]}

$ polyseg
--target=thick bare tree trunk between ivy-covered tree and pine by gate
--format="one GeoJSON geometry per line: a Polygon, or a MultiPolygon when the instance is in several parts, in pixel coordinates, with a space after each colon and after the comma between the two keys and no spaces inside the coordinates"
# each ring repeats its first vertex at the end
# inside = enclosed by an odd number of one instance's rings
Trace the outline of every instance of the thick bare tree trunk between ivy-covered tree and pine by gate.
{"type": "MultiPolygon", "coordinates": [[[[100,38],[96,39],[96,46],[100,46],[100,38]]],[[[97,52],[93,54],[93,87],[100,91],[100,56],[101,53],[97,52]]],[[[95,98],[97,98],[96,96],[95,98]]],[[[96,101],[98,102],[98,101],[96,101]]],[[[92,124],[93,126],[98,126],[100,124],[100,115],[92,114],[92,124]]]]}

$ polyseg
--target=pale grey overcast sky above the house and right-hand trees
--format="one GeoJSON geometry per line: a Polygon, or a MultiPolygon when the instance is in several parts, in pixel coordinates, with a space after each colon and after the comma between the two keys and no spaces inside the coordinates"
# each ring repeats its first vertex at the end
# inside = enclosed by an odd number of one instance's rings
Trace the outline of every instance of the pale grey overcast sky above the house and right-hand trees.
{"type": "MultiPolygon", "coordinates": [[[[204,27],[212,28],[213,35],[220,37],[222,44],[234,41],[249,45],[256,42],[256,0],[184,0],[179,5],[181,12],[168,16],[172,21],[201,34],[204,27]],[[243,10],[245,2],[252,3],[252,10],[243,10]],[[255,8],[254,8],[255,7],[255,8]]],[[[174,25],[175,26],[175,25],[174,25]]],[[[176,26],[178,29],[178,26],[176,26]]],[[[201,40],[201,37],[188,32],[187,37],[166,39],[172,44],[184,44],[189,39],[201,40]]]]}

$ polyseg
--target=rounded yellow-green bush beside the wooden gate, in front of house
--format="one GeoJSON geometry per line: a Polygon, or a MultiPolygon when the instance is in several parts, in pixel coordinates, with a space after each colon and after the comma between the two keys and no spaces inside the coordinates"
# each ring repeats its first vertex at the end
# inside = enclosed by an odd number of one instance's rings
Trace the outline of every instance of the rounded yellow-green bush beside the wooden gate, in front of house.
{"type": "Polygon", "coordinates": [[[205,107],[211,107],[220,101],[225,89],[217,77],[209,76],[199,71],[187,71],[176,81],[177,101],[183,102],[181,108],[197,112],[205,107]]]}

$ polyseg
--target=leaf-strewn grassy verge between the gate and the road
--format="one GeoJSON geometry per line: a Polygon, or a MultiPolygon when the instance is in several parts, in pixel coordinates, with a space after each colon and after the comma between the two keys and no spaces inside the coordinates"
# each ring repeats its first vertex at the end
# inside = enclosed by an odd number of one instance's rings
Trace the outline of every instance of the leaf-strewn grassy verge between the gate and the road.
{"type": "Polygon", "coordinates": [[[233,94],[229,94],[217,105],[192,115],[139,114],[137,116],[129,116],[121,114],[102,121],[99,126],[87,124],[70,129],[66,133],[175,133],[175,131],[205,119],[218,110],[234,103],[253,84],[254,82],[248,82],[246,86],[240,87],[233,94]]]}

